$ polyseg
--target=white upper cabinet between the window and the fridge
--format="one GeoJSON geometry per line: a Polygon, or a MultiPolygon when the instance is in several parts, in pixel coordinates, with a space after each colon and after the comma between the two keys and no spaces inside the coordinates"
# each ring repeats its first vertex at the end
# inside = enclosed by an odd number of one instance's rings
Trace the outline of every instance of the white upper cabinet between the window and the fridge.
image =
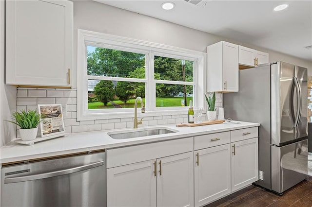
{"type": "Polygon", "coordinates": [[[207,47],[207,91],[238,91],[238,45],[220,41],[207,47]]]}

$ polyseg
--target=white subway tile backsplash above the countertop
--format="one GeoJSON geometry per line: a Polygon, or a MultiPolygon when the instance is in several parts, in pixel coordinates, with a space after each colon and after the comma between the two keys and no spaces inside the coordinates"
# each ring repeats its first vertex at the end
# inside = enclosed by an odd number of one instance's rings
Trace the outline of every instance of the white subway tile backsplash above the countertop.
{"type": "MultiPolygon", "coordinates": [[[[64,116],[65,132],[67,133],[133,128],[133,118],[105,119],[109,116],[103,116],[103,120],[77,121],[77,90],[62,88],[18,88],[17,110],[37,109],[37,104],[67,104],[67,113],[64,116]]],[[[216,93],[215,107],[222,107],[222,93],[216,93]]],[[[138,112],[138,121],[141,117],[142,114],[138,112]]],[[[202,117],[202,121],[204,120],[207,120],[206,113],[202,117]]],[[[144,117],[142,124],[138,126],[175,124],[187,121],[187,114],[149,116],[144,117]]]]}

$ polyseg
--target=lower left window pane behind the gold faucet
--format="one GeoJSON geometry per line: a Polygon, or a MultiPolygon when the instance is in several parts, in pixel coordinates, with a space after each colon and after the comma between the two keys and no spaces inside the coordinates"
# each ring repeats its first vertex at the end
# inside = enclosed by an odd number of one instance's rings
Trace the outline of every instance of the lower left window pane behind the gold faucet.
{"type": "Polygon", "coordinates": [[[145,105],[145,83],[88,80],[88,109],[134,108],[137,96],[145,105]]]}

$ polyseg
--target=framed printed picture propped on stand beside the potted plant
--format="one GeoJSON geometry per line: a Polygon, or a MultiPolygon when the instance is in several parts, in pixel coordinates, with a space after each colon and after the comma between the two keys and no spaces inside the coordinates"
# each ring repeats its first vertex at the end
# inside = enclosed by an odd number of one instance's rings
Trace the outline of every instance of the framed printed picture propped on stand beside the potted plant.
{"type": "Polygon", "coordinates": [[[38,104],[38,111],[44,117],[40,123],[42,138],[65,133],[61,104],[38,104]]]}

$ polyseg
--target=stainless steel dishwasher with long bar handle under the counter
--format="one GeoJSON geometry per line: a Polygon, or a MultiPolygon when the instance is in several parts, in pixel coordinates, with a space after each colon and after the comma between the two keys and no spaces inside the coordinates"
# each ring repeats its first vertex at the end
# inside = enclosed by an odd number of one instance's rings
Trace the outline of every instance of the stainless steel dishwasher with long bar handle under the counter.
{"type": "Polygon", "coordinates": [[[8,163],[1,207],[106,207],[105,150],[8,163]]]}

